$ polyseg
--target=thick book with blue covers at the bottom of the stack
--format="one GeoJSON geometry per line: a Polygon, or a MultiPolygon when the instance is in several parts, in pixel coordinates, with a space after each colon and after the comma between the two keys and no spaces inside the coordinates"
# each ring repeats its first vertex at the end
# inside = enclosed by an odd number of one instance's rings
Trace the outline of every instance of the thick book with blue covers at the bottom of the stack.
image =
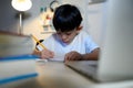
{"type": "Polygon", "coordinates": [[[35,55],[0,57],[0,85],[38,76],[35,55]]]}

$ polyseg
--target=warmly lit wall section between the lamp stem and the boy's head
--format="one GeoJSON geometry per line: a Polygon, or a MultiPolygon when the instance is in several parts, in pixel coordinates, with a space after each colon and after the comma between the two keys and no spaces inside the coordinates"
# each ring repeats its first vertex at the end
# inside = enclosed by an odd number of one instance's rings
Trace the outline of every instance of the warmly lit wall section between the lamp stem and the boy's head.
{"type": "MultiPolygon", "coordinates": [[[[54,32],[51,28],[43,28],[42,21],[45,13],[50,13],[49,4],[51,1],[53,0],[32,0],[33,4],[29,10],[31,16],[29,20],[23,22],[23,34],[33,34],[41,40],[51,35],[51,32],[54,32]],[[43,11],[41,11],[41,9],[43,9],[43,11]],[[45,29],[48,31],[45,31],[45,29]]],[[[52,14],[52,12],[50,14],[52,14]]]]}

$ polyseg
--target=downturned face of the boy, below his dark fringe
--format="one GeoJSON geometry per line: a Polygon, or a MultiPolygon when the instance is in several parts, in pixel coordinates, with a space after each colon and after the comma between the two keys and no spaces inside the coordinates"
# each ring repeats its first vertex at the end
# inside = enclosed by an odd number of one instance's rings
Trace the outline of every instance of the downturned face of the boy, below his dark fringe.
{"type": "Polygon", "coordinates": [[[78,33],[79,33],[79,29],[74,29],[73,31],[69,31],[69,32],[61,32],[61,31],[57,32],[60,40],[65,44],[70,44],[73,41],[73,38],[78,35],[78,33]]]}

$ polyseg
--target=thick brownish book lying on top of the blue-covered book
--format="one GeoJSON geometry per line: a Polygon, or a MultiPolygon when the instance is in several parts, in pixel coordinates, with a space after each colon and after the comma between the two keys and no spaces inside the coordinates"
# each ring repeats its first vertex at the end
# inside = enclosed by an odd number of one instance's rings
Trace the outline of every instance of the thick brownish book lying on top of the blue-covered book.
{"type": "Polygon", "coordinates": [[[0,57],[32,54],[33,50],[31,35],[0,32],[0,57]]]}

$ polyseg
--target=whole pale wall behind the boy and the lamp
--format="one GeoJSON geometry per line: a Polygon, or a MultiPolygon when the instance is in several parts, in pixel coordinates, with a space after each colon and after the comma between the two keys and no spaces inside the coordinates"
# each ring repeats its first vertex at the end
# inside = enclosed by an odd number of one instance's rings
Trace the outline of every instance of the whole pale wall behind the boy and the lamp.
{"type": "MultiPolygon", "coordinates": [[[[23,16],[23,34],[33,34],[39,40],[45,38],[54,32],[52,28],[43,28],[42,16],[45,13],[51,13],[49,9],[44,12],[41,8],[48,8],[53,0],[32,0],[32,8],[25,11],[23,16]]],[[[75,4],[83,15],[83,28],[93,37],[93,40],[101,46],[104,37],[104,16],[105,3],[89,4],[89,0],[58,0],[60,4],[71,3],[75,4]]],[[[0,0],[0,30],[19,32],[19,12],[11,7],[10,0],[0,0]]]]}

